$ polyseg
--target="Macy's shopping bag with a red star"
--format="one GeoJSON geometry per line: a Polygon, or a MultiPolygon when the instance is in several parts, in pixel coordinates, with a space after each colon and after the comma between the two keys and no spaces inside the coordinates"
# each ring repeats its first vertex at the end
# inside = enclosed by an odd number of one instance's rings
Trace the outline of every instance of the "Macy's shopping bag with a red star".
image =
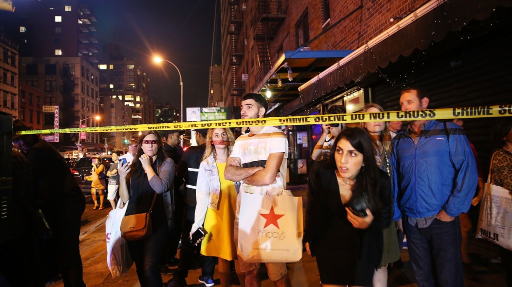
{"type": "Polygon", "coordinates": [[[302,198],[242,193],[238,256],[246,262],[296,262],[302,258],[302,198]]]}

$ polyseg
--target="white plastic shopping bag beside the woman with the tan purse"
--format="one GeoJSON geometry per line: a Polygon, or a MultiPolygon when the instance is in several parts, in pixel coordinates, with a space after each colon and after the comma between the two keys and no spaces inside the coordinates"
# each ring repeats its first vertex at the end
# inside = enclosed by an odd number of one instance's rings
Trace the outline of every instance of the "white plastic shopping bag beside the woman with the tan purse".
{"type": "Polygon", "coordinates": [[[117,203],[116,209],[109,212],[105,222],[106,233],[106,263],[109,265],[112,277],[119,277],[128,272],[133,265],[132,257],[128,251],[126,240],[121,237],[121,221],[123,220],[126,206],[122,200],[117,203]]]}

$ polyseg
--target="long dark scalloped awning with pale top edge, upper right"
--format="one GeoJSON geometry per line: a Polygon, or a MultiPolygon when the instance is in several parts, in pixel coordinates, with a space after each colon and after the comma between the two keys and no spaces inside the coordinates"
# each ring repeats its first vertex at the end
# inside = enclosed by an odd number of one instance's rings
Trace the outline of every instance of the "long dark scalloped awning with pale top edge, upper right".
{"type": "MultiPolygon", "coordinates": [[[[356,83],[400,56],[407,57],[415,49],[424,50],[443,40],[472,19],[487,18],[498,6],[510,7],[512,1],[432,0],[299,87],[301,100],[310,103],[318,94],[356,83]]],[[[295,101],[286,112],[299,106],[295,101]]]]}

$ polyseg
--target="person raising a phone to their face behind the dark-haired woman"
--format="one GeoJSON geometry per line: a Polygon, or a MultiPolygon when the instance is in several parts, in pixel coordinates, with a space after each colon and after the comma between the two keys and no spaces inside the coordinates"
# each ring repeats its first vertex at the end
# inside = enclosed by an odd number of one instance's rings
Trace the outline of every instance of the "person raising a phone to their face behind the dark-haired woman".
{"type": "MultiPolygon", "coordinates": [[[[327,110],[326,114],[344,114],[347,110],[342,105],[332,105],[327,110]]],[[[322,160],[329,157],[332,144],[338,134],[345,128],[345,124],[342,123],[331,123],[322,125],[322,135],[311,153],[311,159],[322,160]]]]}

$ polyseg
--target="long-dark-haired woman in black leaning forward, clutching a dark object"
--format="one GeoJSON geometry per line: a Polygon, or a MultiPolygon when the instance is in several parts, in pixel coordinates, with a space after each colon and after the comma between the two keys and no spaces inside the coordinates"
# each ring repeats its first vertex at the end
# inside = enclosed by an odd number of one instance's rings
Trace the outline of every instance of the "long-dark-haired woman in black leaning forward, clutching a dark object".
{"type": "Polygon", "coordinates": [[[304,241],[324,287],[371,286],[390,222],[389,176],[377,168],[368,134],[346,128],[308,179],[304,241]]]}

